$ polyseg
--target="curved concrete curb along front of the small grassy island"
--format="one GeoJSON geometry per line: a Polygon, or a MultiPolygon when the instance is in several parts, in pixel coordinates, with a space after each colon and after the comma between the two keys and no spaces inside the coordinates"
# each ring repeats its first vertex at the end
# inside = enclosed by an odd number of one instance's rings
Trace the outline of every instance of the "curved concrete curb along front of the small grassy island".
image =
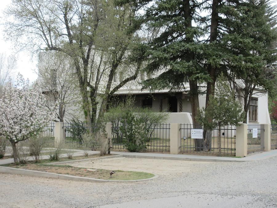
{"type": "Polygon", "coordinates": [[[47,172],[36,171],[36,170],[10,168],[10,167],[4,167],[4,166],[0,166],[0,173],[11,173],[11,174],[20,174],[20,175],[35,176],[35,177],[58,178],[58,179],[65,179],[65,180],[72,180],[72,181],[89,181],[89,182],[138,182],[138,181],[148,181],[158,177],[157,175],[154,175],[154,177],[151,177],[151,178],[129,180],[129,181],[104,180],[104,179],[89,178],[89,177],[63,175],[58,173],[47,173],[47,172]]]}

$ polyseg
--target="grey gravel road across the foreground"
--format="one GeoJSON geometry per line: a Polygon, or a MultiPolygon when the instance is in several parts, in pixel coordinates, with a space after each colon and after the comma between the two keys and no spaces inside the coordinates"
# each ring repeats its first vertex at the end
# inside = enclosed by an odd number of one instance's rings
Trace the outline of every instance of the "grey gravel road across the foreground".
{"type": "MultiPolygon", "coordinates": [[[[163,165],[159,159],[156,162],[163,165]]],[[[0,173],[0,207],[277,207],[277,157],[240,163],[170,163],[193,168],[124,183],[0,173]]]]}

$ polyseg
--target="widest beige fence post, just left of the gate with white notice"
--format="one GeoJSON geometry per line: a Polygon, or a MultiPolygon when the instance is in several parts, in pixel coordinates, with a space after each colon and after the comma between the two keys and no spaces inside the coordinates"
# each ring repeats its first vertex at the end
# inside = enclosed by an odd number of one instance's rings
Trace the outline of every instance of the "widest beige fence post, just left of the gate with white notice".
{"type": "Polygon", "coordinates": [[[236,157],[247,156],[247,124],[237,125],[236,128],[236,157]]]}

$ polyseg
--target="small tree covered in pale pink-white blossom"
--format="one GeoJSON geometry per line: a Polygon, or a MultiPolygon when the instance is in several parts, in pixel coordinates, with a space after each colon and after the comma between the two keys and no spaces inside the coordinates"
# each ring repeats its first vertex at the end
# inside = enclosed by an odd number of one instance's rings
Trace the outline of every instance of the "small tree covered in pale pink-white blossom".
{"type": "Polygon", "coordinates": [[[32,137],[38,137],[54,117],[55,106],[43,110],[46,97],[37,86],[30,87],[29,80],[18,74],[16,84],[4,88],[0,99],[0,136],[10,141],[14,163],[18,163],[16,144],[32,137]]]}

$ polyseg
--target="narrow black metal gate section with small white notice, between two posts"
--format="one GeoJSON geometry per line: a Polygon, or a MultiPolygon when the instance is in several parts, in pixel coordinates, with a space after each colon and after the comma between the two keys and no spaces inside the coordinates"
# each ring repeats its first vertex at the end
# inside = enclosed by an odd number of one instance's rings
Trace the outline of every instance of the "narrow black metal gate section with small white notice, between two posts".
{"type": "Polygon", "coordinates": [[[247,154],[264,151],[264,124],[248,124],[247,154]]]}

